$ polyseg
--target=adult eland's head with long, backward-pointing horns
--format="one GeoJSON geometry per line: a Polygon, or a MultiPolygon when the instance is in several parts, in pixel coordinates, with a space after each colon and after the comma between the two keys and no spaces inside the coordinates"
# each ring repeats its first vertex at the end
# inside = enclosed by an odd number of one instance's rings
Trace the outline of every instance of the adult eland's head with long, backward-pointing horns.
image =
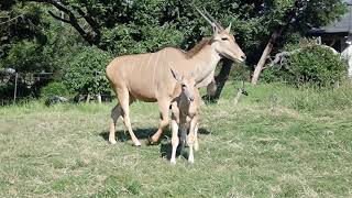
{"type": "Polygon", "coordinates": [[[221,24],[217,22],[206,10],[201,12],[198,8],[196,9],[212,26],[213,35],[211,38],[211,46],[213,46],[216,52],[220,56],[227,57],[234,62],[244,62],[245,54],[235,42],[234,36],[230,34],[231,23],[227,29],[223,29],[221,24]]]}

